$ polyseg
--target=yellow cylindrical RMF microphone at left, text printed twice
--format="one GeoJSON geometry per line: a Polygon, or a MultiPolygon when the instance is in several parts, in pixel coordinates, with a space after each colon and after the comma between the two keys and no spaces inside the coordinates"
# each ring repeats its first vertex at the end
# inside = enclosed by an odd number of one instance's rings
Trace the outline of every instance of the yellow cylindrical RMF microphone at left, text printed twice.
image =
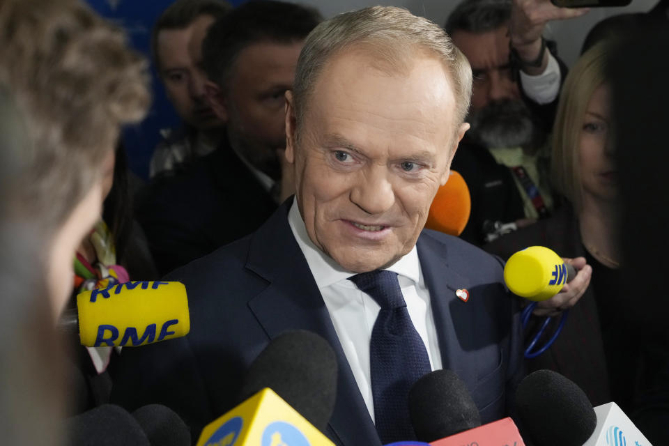
{"type": "Polygon", "coordinates": [[[59,328],[79,330],[89,347],[136,347],[190,332],[185,286],[180,282],[125,282],[77,295],[77,310],[59,328]]]}

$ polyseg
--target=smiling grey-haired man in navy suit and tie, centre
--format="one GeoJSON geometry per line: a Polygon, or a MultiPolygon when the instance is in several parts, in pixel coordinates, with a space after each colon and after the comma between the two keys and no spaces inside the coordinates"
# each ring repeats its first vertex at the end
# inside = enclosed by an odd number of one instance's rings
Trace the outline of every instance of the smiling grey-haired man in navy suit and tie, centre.
{"type": "Polygon", "coordinates": [[[306,329],[337,353],[325,433],[338,445],[415,436],[408,390],[434,369],[459,375],[483,422],[508,415],[523,367],[502,263],[422,231],[468,129],[471,79],[445,31],[401,8],[316,27],[286,93],[295,198],[168,277],[186,285],[192,330],[124,351],[114,401],[167,404],[197,438],[270,340],[306,329]]]}

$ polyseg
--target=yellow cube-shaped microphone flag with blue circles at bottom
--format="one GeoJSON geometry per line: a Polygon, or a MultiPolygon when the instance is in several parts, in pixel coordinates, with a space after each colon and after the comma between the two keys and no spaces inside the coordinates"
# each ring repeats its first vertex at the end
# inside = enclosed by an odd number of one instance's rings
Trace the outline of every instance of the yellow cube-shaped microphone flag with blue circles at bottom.
{"type": "Polygon", "coordinates": [[[269,387],[202,430],[197,446],[334,446],[269,387]]]}

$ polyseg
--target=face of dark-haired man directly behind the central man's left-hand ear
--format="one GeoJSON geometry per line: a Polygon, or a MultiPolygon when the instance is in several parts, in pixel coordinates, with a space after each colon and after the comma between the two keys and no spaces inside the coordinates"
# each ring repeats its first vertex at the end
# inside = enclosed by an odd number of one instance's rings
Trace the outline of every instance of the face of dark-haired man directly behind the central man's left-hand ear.
{"type": "Polygon", "coordinates": [[[281,172],[277,149],[286,147],[285,95],[293,88],[303,44],[260,42],[245,47],[223,93],[231,144],[275,180],[281,172]]]}

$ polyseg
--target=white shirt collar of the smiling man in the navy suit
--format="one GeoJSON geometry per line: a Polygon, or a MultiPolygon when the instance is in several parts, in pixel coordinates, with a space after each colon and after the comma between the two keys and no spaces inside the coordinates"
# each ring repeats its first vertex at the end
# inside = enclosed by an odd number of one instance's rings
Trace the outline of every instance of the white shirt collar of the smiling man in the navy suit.
{"type": "MultiPolygon", "coordinates": [[[[314,275],[318,289],[323,289],[356,274],[342,268],[332,257],[314,245],[309,238],[302,215],[300,215],[297,197],[293,199],[293,205],[288,213],[288,222],[293,231],[293,236],[295,236],[295,240],[297,240],[302,250],[302,254],[305,254],[305,259],[307,259],[309,269],[312,271],[312,275],[314,275]]],[[[402,256],[398,261],[385,269],[408,277],[416,284],[419,283],[420,263],[415,245],[408,254],[402,256]]]]}

